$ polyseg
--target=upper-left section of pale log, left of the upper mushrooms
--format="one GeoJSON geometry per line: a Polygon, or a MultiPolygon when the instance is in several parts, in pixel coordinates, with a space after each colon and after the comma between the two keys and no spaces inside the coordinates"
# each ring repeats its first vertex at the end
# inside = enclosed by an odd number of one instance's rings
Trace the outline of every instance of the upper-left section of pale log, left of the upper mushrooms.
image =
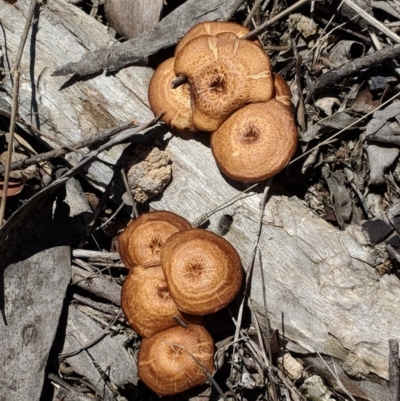
{"type": "MultiPolygon", "coordinates": [[[[0,0],[0,46],[4,58],[5,78],[1,96],[11,104],[12,81],[9,75],[25,23],[29,0],[15,4],[0,0]]],[[[79,60],[89,51],[112,46],[107,27],[65,0],[43,3],[35,16],[23,53],[20,72],[19,116],[36,128],[54,136],[58,143],[71,144],[113,128],[118,121],[144,121],[150,117],[147,106],[147,83],[152,71],[146,66],[125,68],[113,75],[100,75],[87,81],[52,77],[62,60],[79,60]],[[134,93],[134,99],[127,98],[134,93]]],[[[51,149],[59,148],[43,138],[51,149]]],[[[83,149],[84,150],[84,149],[83,149]]],[[[104,152],[102,159],[114,163],[123,146],[104,152]]],[[[68,162],[76,165],[81,155],[70,153],[68,162]]],[[[87,168],[92,183],[104,188],[113,170],[99,162],[87,168]]]]}

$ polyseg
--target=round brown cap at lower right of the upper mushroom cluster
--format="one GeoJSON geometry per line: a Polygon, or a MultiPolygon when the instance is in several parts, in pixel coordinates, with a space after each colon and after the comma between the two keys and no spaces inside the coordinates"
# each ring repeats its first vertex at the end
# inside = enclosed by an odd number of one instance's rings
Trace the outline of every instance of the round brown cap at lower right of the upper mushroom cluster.
{"type": "Polygon", "coordinates": [[[276,100],[249,104],[211,136],[220,170],[241,182],[257,182],[279,173],[297,147],[297,127],[289,109],[276,100]]]}

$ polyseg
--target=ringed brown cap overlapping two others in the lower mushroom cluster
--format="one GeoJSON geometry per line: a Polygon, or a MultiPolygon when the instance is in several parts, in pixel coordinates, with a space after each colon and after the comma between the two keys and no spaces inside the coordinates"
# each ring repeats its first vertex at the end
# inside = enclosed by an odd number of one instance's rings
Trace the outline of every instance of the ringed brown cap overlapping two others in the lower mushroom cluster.
{"type": "Polygon", "coordinates": [[[172,235],[161,250],[161,265],[178,309],[192,315],[222,309],[236,296],[242,282],[235,248],[202,229],[172,235]]]}

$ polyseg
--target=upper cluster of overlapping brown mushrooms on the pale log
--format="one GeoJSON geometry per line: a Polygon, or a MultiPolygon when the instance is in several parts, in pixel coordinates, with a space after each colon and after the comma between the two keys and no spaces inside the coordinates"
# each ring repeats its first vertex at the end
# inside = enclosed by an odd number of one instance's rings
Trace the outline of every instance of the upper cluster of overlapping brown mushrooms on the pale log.
{"type": "Polygon", "coordinates": [[[281,171],[297,147],[297,127],[286,81],[271,71],[258,40],[232,22],[203,22],[160,64],[149,103],[178,130],[212,132],[211,150],[229,178],[256,182],[281,171]],[[172,82],[187,82],[174,89],[172,82]]]}

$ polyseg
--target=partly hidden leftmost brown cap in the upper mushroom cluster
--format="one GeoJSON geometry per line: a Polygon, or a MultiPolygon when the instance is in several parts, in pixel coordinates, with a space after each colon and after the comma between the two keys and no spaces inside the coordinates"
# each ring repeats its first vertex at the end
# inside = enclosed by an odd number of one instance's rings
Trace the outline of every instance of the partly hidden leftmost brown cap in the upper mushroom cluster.
{"type": "Polygon", "coordinates": [[[174,58],[161,63],[150,80],[149,103],[154,115],[166,112],[161,118],[172,128],[195,130],[190,107],[190,88],[188,83],[172,89],[171,83],[176,78],[174,58]]]}

